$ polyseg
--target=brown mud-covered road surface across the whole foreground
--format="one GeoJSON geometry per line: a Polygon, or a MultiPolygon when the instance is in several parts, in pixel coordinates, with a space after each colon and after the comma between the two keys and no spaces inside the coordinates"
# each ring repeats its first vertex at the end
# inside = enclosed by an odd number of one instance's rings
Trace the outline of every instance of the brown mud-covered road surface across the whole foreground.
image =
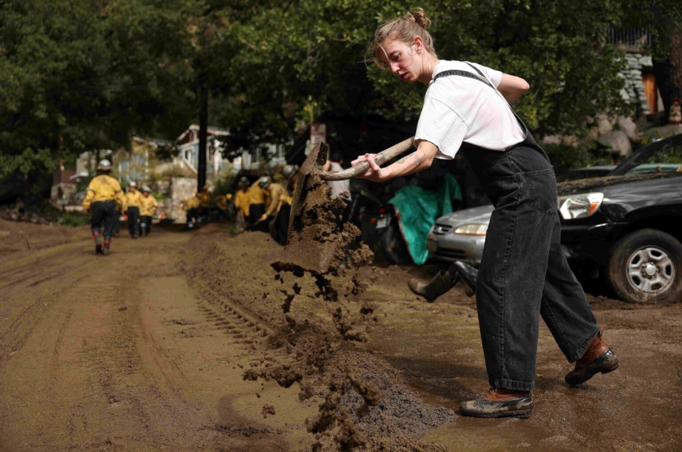
{"type": "Polygon", "coordinates": [[[531,419],[467,419],[475,303],[413,296],[430,269],[363,267],[362,294],[341,271],[325,301],[260,233],[157,229],[105,258],[87,228],[22,227],[0,221],[0,450],[682,448],[682,304],[591,298],[617,372],[566,387],[542,325],[531,419]]]}

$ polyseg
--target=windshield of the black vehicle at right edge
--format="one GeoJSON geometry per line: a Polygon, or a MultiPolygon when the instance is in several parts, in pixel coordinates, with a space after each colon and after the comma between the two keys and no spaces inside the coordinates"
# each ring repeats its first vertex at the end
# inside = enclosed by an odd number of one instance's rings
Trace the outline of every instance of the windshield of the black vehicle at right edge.
{"type": "Polygon", "coordinates": [[[682,173],[682,137],[656,141],[621,163],[612,175],[682,173]]]}

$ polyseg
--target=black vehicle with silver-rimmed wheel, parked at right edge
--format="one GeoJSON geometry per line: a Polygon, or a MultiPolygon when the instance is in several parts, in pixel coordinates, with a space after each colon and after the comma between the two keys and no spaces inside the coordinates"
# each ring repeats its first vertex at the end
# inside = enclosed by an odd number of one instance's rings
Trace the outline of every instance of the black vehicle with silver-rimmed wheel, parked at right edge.
{"type": "Polygon", "coordinates": [[[682,135],[648,144],[602,178],[558,184],[571,267],[624,301],[682,298],[682,135]],[[573,265],[577,264],[577,265],[573,265]]]}

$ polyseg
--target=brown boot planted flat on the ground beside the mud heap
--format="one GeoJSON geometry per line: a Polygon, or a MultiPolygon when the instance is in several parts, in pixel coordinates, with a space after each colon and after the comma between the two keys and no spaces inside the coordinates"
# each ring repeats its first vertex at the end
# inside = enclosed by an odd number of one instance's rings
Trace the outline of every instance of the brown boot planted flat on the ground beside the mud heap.
{"type": "Polygon", "coordinates": [[[530,391],[490,388],[483,399],[462,402],[459,414],[471,417],[518,417],[528,419],[533,412],[530,391]]]}

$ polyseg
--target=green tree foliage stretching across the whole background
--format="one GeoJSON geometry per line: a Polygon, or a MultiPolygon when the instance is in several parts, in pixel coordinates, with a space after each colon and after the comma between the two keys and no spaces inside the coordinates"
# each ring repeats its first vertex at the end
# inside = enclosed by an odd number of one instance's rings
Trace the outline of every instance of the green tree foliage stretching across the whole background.
{"type": "MultiPolygon", "coordinates": [[[[515,105],[537,134],[582,136],[585,116],[627,112],[607,26],[642,27],[655,56],[680,30],[673,1],[423,1],[443,59],[528,80],[515,105]]],[[[132,134],[174,139],[211,93],[209,121],[240,148],[281,143],[320,118],[414,121],[423,85],[367,61],[395,0],[26,0],[0,4],[0,173],[31,173],[132,134]]],[[[372,134],[372,130],[368,130],[372,134]]]]}

